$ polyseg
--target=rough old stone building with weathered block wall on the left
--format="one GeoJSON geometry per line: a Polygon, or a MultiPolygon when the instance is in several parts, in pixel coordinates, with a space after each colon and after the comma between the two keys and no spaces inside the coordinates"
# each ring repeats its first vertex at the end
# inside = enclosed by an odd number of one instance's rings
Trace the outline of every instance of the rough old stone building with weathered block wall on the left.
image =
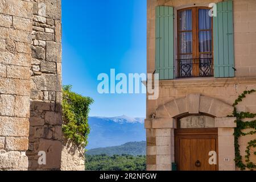
{"type": "Polygon", "coordinates": [[[61,88],[61,0],[1,0],[0,169],[84,169],[63,140],[61,88]]]}

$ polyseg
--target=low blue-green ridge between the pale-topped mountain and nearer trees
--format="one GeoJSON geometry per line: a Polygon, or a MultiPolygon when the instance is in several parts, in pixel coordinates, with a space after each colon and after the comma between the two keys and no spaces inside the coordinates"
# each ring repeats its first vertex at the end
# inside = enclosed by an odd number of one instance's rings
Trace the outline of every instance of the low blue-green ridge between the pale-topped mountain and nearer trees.
{"type": "Polygon", "coordinates": [[[146,155],[146,142],[128,142],[121,146],[93,148],[86,152],[87,155],[146,155]]]}

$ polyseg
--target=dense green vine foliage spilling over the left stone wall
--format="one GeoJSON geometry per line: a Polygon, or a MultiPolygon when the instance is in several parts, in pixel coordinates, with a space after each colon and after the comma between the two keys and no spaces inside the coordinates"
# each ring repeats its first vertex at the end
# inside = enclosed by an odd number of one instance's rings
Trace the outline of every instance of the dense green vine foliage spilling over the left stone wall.
{"type": "Polygon", "coordinates": [[[71,88],[71,85],[63,86],[63,134],[65,138],[85,147],[90,133],[89,106],[93,100],[72,92],[71,88]]]}

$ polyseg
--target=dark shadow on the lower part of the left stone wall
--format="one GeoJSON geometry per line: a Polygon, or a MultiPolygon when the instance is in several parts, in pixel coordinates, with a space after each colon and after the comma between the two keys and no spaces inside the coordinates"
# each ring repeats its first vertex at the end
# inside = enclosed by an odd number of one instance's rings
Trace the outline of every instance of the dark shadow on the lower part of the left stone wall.
{"type": "Polygon", "coordinates": [[[31,101],[28,170],[60,170],[62,112],[55,101],[31,101]],[[46,165],[38,164],[39,151],[46,152],[46,165]]]}

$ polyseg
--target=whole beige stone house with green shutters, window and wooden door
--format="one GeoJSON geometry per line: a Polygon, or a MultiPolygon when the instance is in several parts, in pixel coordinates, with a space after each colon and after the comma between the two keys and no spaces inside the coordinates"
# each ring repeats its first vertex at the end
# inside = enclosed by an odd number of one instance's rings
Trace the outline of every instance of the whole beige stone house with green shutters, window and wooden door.
{"type": "MultiPolygon", "coordinates": [[[[255,19],[254,0],[147,1],[147,73],[159,73],[159,97],[147,100],[147,170],[240,169],[236,118],[227,116],[241,93],[256,89],[255,19]]],[[[237,110],[256,113],[256,94],[237,110]]],[[[255,138],[238,140],[243,163],[255,138]]]]}

